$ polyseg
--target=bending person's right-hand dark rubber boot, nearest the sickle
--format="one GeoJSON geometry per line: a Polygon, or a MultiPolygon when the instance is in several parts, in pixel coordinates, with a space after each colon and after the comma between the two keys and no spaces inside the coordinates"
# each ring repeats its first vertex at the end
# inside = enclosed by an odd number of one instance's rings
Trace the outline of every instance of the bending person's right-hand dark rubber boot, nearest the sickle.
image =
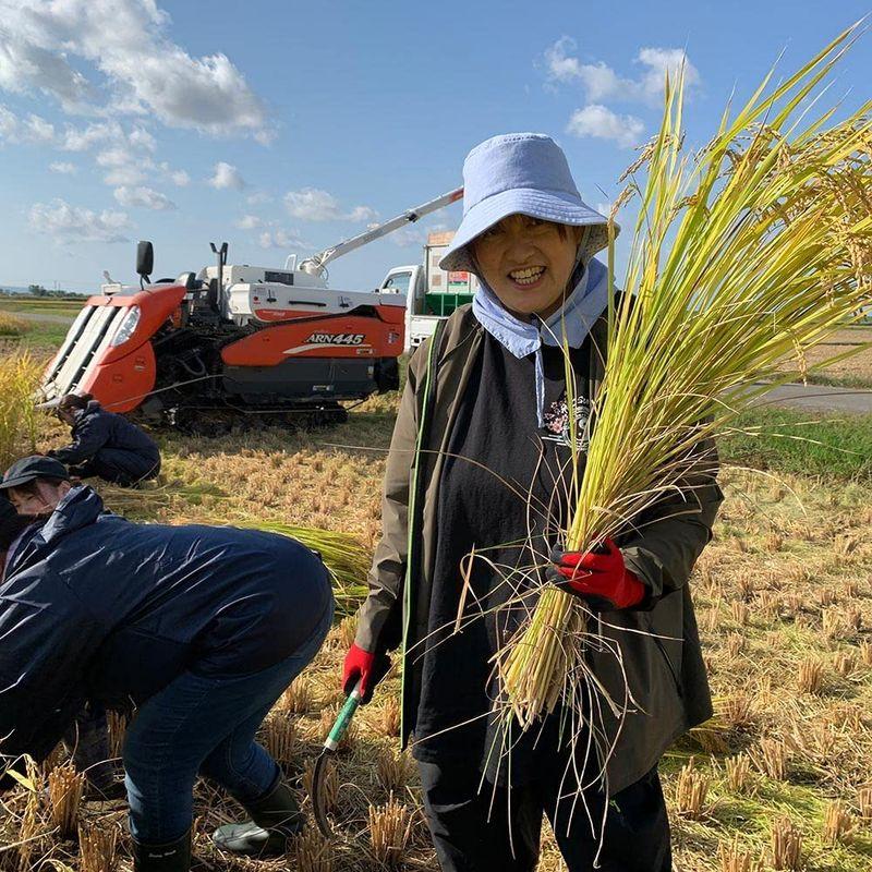
{"type": "Polygon", "coordinates": [[[250,821],[225,824],[213,834],[211,840],[222,850],[246,857],[278,857],[284,853],[288,839],[303,829],[300,806],[281,773],[264,796],[243,802],[242,808],[250,821]]]}

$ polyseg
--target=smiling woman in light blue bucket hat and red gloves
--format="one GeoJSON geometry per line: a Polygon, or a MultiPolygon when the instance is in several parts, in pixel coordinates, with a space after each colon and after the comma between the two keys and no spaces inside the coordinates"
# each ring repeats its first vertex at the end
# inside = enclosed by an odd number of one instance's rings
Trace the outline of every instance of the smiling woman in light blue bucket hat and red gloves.
{"type": "Polygon", "coordinates": [[[600,613],[596,631],[621,652],[622,666],[605,646],[589,652],[602,685],[617,694],[626,676],[634,701],[595,718],[593,738],[610,754],[579,759],[588,736],[569,742],[559,710],[505,742],[491,716],[492,658],[516,626],[512,598],[537,586],[507,578],[548,564],[571,510],[561,499],[562,346],[583,424],[603,379],[608,281],[593,255],[606,245],[606,220],[582,203],[562,152],[541,134],[488,140],[468,156],[463,178],[463,221],[440,266],[476,274],[481,290],[410,362],[383,538],[343,683],[362,679],[368,699],[386,652],[402,645],[402,737],[414,736],[444,870],[533,870],[544,812],[571,872],[597,860],[615,872],[665,872],[657,761],[712,712],[687,581],[722,494],[708,457],[685,497],[662,500],[607,553],[554,555],[546,579],[600,613]],[[473,548],[487,559],[471,564],[456,632],[459,567],[473,548]]]}

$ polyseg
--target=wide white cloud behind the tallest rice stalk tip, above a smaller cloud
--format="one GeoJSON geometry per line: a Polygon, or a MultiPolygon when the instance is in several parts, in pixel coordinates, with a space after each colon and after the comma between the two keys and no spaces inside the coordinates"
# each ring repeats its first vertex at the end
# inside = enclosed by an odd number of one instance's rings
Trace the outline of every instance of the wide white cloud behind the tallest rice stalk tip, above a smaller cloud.
{"type": "Polygon", "coordinates": [[[545,66],[552,82],[579,83],[591,102],[616,99],[622,101],[658,102],[664,90],[666,74],[673,82],[685,71],[685,84],[691,89],[700,84],[699,70],[680,48],[649,47],[639,50],[634,63],[643,68],[635,77],[618,75],[605,61],[582,63],[570,55],[577,48],[568,36],[560,37],[545,50],[545,66]]]}

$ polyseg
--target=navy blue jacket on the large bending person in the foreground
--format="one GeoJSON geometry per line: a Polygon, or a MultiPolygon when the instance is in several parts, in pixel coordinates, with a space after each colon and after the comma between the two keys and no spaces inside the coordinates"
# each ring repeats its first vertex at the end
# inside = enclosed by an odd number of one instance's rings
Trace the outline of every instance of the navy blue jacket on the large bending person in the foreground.
{"type": "Polygon", "coordinates": [[[44,758],[85,700],[141,703],[185,670],[268,668],[330,604],[324,564],[295,540],[132,523],[75,487],[0,585],[0,752],[44,758]]]}

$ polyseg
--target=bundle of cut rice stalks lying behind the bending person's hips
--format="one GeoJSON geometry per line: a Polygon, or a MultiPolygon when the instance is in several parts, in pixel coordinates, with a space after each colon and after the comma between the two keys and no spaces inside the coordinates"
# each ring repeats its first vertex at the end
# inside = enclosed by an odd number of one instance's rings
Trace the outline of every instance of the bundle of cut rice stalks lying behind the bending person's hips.
{"type": "Polygon", "coordinates": [[[307,548],[318,552],[332,577],[337,614],[353,615],[366,598],[366,573],[370,571],[371,554],[354,536],[332,530],[292,526],[274,521],[247,525],[291,536],[307,548]]]}

